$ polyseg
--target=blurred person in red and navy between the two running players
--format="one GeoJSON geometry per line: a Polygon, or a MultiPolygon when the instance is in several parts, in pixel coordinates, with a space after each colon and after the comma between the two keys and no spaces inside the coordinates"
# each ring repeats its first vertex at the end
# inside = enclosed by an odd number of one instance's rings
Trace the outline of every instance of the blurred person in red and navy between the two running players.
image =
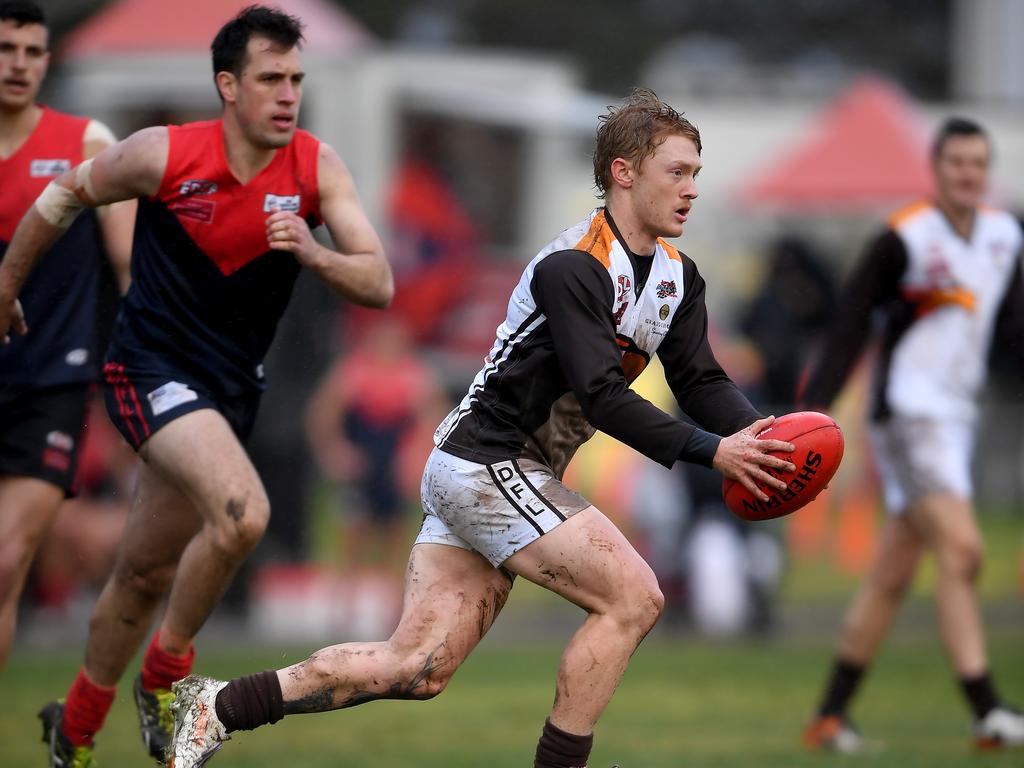
{"type": "MultiPolygon", "coordinates": [[[[339,559],[349,632],[390,632],[401,607],[409,549],[406,512],[418,484],[402,476],[402,454],[433,430],[443,412],[433,371],[416,354],[409,330],[388,315],[370,327],[358,347],[322,379],[306,410],[306,434],[324,476],[344,492],[339,559]],[[381,606],[383,612],[381,615],[381,606]],[[376,606],[376,607],[375,607],[376,606]],[[384,627],[370,618],[381,615],[384,627]]],[[[413,464],[422,466],[430,453],[413,464]]],[[[416,481],[419,476],[416,476],[416,481]]]]}

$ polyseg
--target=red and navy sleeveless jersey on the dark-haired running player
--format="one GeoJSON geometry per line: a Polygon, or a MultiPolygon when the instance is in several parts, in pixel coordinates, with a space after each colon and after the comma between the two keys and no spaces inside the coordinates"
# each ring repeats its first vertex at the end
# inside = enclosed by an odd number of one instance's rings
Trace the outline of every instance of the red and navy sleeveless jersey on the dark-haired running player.
{"type": "Polygon", "coordinates": [[[227,166],[223,123],[169,126],[160,189],[139,200],[132,286],[108,360],[151,374],[189,373],[211,391],[263,388],[262,360],[300,271],[267,248],[266,219],[321,223],[319,141],[297,130],[243,184],[227,166]]]}

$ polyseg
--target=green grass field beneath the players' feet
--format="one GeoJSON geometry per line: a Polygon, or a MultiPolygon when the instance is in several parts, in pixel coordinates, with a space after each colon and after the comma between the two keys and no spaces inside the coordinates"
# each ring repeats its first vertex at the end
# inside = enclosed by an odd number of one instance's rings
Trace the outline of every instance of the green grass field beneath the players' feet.
{"type": "MultiPolygon", "coordinates": [[[[500,628],[496,627],[496,630],[500,628]]],[[[565,627],[549,643],[488,638],[449,689],[429,702],[382,701],[325,715],[291,717],[237,734],[211,765],[228,768],[523,768],[552,696],[565,627]]],[[[1024,765],[1024,753],[977,755],[967,718],[934,633],[896,632],[855,713],[884,742],[871,756],[808,755],[798,743],[829,652],[825,633],[766,642],[714,643],[657,633],[634,656],[599,725],[592,768],[800,768],[1024,765]]],[[[998,622],[990,645],[1000,684],[1024,700],[1024,626],[998,622]]],[[[201,647],[199,669],[220,677],[280,667],[307,648],[229,651],[201,647]]],[[[0,678],[0,766],[43,766],[37,709],[74,676],[78,651],[22,648],[0,678]]],[[[135,730],[127,686],[99,739],[103,768],[152,765],[135,730]]]]}

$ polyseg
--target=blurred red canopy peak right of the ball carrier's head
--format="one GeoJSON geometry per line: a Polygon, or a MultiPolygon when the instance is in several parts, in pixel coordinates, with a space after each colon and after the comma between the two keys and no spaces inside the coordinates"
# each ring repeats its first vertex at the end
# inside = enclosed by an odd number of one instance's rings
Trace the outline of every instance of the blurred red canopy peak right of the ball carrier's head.
{"type": "Polygon", "coordinates": [[[792,151],[744,183],[738,200],[748,207],[837,211],[891,206],[931,189],[916,113],[890,84],[863,79],[792,151]]]}

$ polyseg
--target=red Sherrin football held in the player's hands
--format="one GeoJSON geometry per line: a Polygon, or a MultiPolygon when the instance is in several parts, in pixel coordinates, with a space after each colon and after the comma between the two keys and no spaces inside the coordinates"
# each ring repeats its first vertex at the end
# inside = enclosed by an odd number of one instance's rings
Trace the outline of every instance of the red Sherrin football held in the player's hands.
{"type": "Polygon", "coordinates": [[[816,411],[780,416],[758,437],[796,445],[797,450],[790,456],[781,452],[772,455],[788,458],[797,471],[766,468],[767,472],[788,483],[785,490],[762,487],[768,494],[767,502],[755,498],[735,480],[723,480],[725,506],[744,520],[770,520],[796,512],[825,489],[843,461],[843,430],[829,417],[816,411]]]}

